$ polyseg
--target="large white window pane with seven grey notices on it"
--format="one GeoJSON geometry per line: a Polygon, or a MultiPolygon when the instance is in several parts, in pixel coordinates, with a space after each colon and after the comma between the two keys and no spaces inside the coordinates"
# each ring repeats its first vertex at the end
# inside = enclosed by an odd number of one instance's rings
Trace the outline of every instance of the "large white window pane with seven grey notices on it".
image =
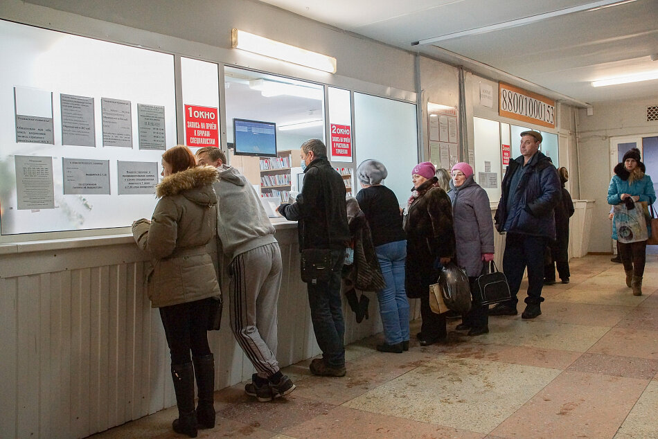
{"type": "Polygon", "coordinates": [[[177,138],[173,55],[8,21],[0,41],[0,242],[150,218],[177,138]],[[133,162],[145,180],[118,186],[133,162]]]}

